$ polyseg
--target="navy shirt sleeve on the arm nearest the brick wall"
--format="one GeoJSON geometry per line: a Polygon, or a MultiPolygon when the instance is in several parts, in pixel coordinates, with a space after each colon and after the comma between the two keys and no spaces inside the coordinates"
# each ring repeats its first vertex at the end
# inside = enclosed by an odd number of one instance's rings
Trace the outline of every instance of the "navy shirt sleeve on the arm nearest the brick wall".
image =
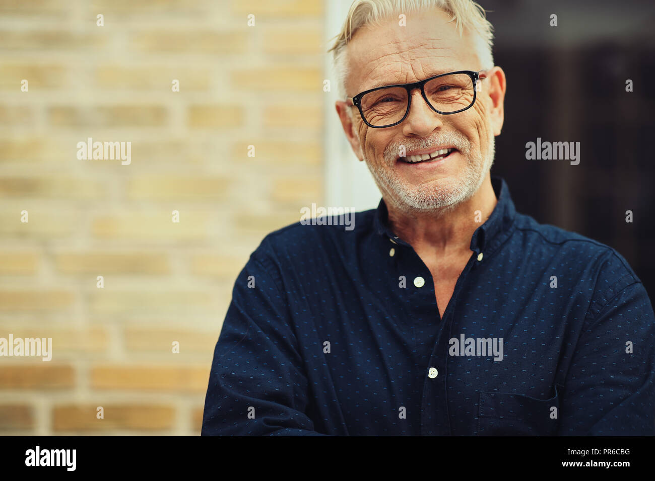
{"type": "Polygon", "coordinates": [[[236,279],[214,349],[201,435],[322,435],[286,296],[273,264],[253,253],[236,279]]]}

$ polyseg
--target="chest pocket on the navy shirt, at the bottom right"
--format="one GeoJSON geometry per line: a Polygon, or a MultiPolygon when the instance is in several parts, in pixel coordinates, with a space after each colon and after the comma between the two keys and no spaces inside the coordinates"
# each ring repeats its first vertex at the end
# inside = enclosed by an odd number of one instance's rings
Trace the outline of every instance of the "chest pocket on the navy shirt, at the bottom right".
{"type": "MultiPolygon", "coordinates": [[[[555,436],[559,393],[550,399],[521,394],[479,393],[478,436],[555,436]]],[[[559,391],[562,387],[559,386],[559,391]]]]}

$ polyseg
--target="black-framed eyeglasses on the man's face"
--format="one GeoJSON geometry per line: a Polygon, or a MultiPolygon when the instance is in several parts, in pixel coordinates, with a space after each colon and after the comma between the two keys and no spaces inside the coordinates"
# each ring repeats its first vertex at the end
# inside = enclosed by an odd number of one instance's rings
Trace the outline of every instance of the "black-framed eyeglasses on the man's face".
{"type": "Polygon", "coordinates": [[[364,90],[352,99],[362,120],[372,128],[400,124],[411,107],[411,91],[421,89],[426,103],[436,113],[449,115],[470,109],[476,101],[477,81],[487,77],[486,71],[460,70],[442,73],[412,84],[387,85],[364,90]]]}

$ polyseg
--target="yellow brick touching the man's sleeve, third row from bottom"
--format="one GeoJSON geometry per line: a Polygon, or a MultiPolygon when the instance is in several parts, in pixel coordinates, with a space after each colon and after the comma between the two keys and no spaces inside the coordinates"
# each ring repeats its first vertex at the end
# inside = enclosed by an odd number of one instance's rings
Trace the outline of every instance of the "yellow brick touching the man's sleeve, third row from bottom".
{"type": "Polygon", "coordinates": [[[127,327],[125,329],[125,346],[130,351],[142,351],[172,354],[173,342],[179,342],[179,354],[198,355],[211,354],[218,340],[216,332],[191,332],[189,330],[162,329],[158,325],[152,327],[127,327]]]}

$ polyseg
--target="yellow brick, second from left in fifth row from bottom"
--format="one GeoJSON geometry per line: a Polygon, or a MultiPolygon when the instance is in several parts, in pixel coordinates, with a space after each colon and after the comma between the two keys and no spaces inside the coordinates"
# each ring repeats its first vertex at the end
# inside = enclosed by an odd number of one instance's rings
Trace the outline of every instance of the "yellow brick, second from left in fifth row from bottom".
{"type": "Polygon", "coordinates": [[[64,274],[170,274],[164,253],[75,251],[55,255],[54,265],[64,274]]]}

